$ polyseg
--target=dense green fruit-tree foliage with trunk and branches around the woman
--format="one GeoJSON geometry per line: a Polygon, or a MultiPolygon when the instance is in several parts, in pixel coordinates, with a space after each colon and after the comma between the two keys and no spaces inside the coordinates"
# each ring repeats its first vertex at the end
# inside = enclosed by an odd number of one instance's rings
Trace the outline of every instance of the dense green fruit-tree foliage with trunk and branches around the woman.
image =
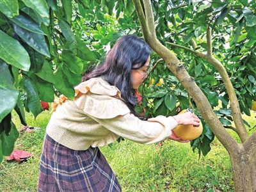
{"type": "Polygon", "coordinates": [[[13,109],[26,125],[25,111],[36,118],[41,100],[60,93],[72,99],[81,72],[98,65],[120,36],[135,34],[154,51],[140,88],[145,115],[193,108],[204,131],[192,149],[206,156],[216,136],[230,157],[236,191],[255,191],[256,132],[248,133],[255,127],[242,117],[255,115],[255,6],[247,0],[1,1],[0,161],[19,137],[13,109]]]}

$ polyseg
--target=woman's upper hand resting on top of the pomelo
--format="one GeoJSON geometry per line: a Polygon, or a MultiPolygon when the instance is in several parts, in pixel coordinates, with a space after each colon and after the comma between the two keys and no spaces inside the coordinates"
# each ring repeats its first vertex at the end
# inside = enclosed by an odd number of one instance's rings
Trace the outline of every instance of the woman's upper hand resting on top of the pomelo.
{"type": "Polygon", "coordinates": [[[196,116],[194,113],[191,113],[190,111],[175,115],[173,118],[175,118],[178,125],[193,125],[194,127],[198,127],[200,122],[198,116],[196,116]]]}

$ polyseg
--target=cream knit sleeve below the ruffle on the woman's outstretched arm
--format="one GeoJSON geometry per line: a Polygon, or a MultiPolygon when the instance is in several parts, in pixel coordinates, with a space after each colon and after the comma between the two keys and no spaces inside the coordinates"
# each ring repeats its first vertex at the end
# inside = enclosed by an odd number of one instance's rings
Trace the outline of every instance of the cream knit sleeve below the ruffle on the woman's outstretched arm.
{"type": "Polygon", "coordinates": [[[147,121],[140,120],[128,113],[115,118],[102,119],[91,116],[99,124],[115,134],[137,143],[150,144],[166,140],[172,134],[172,129],[177,127],[177,122],[172,117],[157,116],[147,121]]]}

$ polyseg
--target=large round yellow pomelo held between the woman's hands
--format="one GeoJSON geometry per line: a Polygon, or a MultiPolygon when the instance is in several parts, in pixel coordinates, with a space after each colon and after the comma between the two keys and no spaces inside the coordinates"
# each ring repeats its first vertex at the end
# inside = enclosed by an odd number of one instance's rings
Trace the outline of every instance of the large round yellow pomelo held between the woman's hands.
{"type": "MultiPolygon", "coordinates": [[[[179,114],[185,113],[186,111],[187,110],[184,109],[180,111],[179,114]]],[[[203,125],[201,121],[199,127],[194,127],[193,125],[178,125],[173,129],[173,132],[178,138],[182,136],[182,140],[195,140],[202,134],[203,125]]]]}

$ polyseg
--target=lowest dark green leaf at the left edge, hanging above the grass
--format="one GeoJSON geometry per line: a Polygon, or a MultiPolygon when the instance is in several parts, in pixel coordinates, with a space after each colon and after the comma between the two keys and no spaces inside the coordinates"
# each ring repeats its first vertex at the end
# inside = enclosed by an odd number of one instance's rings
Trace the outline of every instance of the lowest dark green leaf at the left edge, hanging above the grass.
{"type": "Polygon", "coordinates": [[[0,163],[3,161],[3,156],[10,156],[13,152],[14,143],[19,138],[19,131],[17,131],[16,126],[13,122],[10,122],[11,129],[9,135],[5,132],[0,134],[0,163]]]}

